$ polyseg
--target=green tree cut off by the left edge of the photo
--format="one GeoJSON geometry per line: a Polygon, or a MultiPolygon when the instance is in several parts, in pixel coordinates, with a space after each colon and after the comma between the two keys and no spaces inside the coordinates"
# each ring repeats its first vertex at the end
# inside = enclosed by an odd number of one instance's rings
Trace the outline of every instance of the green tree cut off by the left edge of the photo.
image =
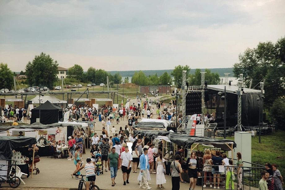
{"type": "Polygon", "coordinates": [[[14,86],[13,73],[8,68],[7,63],[0,63],[0,89],[8,88],[11,89],[14,86]]]}

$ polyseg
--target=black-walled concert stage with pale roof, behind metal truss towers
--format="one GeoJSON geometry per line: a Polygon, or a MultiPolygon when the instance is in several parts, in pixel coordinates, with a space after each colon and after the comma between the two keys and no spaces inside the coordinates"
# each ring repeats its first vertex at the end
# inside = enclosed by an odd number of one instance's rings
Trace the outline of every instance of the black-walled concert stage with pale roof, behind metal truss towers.
{"type": "MultiPolygon", "coordinates": [[[[223,112],[225,101],[221,99],[218,92],[224,92],[226,86],[226,126],[232,127],[237,125],[238,120],[238,86],[231,85],[208,85],[205,91],[205,108],[215,109],[215,122],[218,127],[223,127],[223,112]]],[[[261,90],[243,88],[241,124],[243,126],[258,126],[259,121],[259,104],[257,98],[261,90]]],[[[206,110],[205,110],[206,111],[206,110]]],[[[213,112],[213,110],[211,110],[213,112]]],[[[209,114],[210,111],[209,111],[209,114]]]]}

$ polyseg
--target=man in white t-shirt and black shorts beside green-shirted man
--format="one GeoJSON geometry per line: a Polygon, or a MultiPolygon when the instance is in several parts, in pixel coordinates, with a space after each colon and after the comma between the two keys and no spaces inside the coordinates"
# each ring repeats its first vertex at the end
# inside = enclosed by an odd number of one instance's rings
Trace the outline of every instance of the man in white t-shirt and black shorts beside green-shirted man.
{"type": "Polygon", "coordinates": [[[121,169],[123,172],[123,180],[124,180],[124,185],[126,185],[126,183],[129,183],[129,174],[131,173],[132,170],[132,160],[133,160],[133,156],[132,154],[129,152],[129,147],[125,146],[125,151],[121,153],[121,169]],[[126,181],[127,178],[127,181],[126,181]]]}

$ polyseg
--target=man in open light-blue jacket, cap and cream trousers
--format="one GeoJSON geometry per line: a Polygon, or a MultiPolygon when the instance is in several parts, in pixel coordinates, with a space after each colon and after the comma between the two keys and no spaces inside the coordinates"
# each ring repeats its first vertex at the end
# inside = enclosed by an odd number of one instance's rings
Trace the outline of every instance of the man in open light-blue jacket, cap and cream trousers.
{"type": "Polygon", "coordinates": [[[147,170],[149,170],[147,152],[148,152],[148,149],[144,148],[142,156],[139,157],[140,169],[143,174],[139,188],[149,190],[151,189],[151,187],[149,187],[148,182],[147,182],[147,170]],[[145,187],[143,185],[145,185],[145,187]]]}

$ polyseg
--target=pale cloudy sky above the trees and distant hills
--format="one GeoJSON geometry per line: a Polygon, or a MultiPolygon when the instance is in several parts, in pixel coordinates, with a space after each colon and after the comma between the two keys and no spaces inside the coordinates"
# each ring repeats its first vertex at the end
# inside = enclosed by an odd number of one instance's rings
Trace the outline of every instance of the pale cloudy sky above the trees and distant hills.
{"type": "Polygon", "coordinates": [[[0,62],[41,52],[64,68],[228,68],[285,35],[284,0],[1,0],[0,62]]]}

